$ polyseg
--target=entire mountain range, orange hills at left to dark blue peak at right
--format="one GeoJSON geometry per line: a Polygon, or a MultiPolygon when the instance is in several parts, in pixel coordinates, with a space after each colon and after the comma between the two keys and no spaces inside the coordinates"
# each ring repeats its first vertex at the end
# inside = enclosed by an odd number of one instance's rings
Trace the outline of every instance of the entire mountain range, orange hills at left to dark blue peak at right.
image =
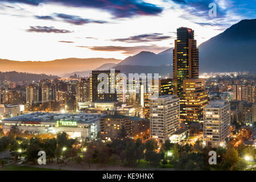
{"type": "MultiPolygon", "coordinates": [[[[256,72],[256,19],[234,24],[221,34],[199,46],[200,73],[256,72]]],[[[61,59],[53,61],[11,61],[0,59],[0,71],[46,73],[69,77],[75,73],[88,76],[95,69],[120,69],[125,73],[172,73],[172,51],[155,54],[142,51],[124,60],[117,59],[61,59]]]]}

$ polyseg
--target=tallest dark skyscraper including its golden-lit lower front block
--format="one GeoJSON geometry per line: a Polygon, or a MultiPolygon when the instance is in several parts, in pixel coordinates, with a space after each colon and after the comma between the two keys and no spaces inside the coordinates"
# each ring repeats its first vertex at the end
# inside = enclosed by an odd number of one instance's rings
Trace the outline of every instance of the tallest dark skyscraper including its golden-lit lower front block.
{"type": "Polygon", "coordinates": [[[199,49],[191,28],[177,28],[173,52],[174,94],[180,98],[180,118],[199,121],[208,102],[204,79],[199,78],[199,49]]]}

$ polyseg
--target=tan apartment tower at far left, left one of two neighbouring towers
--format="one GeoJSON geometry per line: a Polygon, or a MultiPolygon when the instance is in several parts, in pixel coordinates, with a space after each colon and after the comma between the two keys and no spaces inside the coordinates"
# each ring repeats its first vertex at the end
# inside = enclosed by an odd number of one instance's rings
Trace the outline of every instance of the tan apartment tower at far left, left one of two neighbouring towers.
{"type": "Polygon", "coordinates": [[[26,103],[27,105],[39,103],[39,86],[28,85],[26,88],[26,103]]]}

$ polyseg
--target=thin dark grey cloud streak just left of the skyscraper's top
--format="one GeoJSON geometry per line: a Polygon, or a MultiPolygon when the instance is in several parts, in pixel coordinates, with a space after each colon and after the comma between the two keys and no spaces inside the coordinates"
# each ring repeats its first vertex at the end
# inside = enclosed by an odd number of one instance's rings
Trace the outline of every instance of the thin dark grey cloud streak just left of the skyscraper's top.
{"type": "Polygon", "coordinates": [[[129,38],[125,38],[125,39],[112,39],[112,41],[138,43],[138,42],[155,42],[155,41],[161,41],[161,40],[172,38],[172,36],[162,36],[162,35],[163,34],[158,34],[158,33],[142,34],[142,35],[130,36],[129,38]]]}

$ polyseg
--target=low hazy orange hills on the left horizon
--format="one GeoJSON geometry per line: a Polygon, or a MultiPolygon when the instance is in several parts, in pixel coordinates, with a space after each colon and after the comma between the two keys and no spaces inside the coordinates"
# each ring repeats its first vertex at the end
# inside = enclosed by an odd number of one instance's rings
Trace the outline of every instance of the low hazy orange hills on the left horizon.
{"type": "Polygon", "coordinates": [[[68,58],[53,61],[11,61],[0,59],[0,71],[17,71],[28,73],[46,73],[54,75],[63,75],[64,73],[92,70],[105,63],[119,63],[118,59],[105,58],[68,58]]]}

